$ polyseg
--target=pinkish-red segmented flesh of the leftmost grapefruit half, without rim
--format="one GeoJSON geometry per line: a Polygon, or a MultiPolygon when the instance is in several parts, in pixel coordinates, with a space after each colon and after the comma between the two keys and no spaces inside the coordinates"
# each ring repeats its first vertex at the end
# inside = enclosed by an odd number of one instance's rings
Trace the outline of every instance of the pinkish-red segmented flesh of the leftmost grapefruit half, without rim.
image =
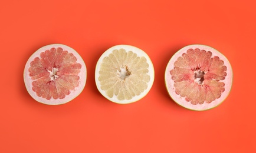
{"type": "Polygon", "coordinates": [[[79,85],[81,64],[63,48],[51,48],[34,58],[28,68],[32,90],[38,97],[63,99],[79,85]]]}

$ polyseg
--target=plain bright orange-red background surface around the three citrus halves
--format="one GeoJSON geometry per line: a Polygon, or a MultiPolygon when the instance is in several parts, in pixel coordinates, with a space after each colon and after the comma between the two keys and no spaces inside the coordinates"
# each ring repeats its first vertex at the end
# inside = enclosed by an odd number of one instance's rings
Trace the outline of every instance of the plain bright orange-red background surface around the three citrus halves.
{"type": "Polygon", "coordinates": [[[256,152],[253,1],[1,1],[0,152],[256,152]],[[88,79],[64,105],[40,104],[25,89],[30,55],[61,43],[82,56],[88,79]],[[145,98],[114,104],[97,91],[97,60],[113,45],[143,49],[155,66],[145,98]],[[190,44],[227,56],[231,94],[217,108],[179,107],[165,89],[170,57],[190,44]],[[254,81],[254,82],[253,82],[254,81]]]}

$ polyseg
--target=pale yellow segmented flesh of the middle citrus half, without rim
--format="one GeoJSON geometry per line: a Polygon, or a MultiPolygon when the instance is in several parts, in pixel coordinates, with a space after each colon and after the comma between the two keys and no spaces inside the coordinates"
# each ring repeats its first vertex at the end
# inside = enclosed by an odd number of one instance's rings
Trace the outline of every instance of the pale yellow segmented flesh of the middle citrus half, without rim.
{"type": "Polygon", "coordinates": [[[148,68],[144,56],[126,49],[114,49],[100,65],[100,88],[106,91],[107,97],[116,96],[120,101],[132,99],[147,89],[148,68]]]}

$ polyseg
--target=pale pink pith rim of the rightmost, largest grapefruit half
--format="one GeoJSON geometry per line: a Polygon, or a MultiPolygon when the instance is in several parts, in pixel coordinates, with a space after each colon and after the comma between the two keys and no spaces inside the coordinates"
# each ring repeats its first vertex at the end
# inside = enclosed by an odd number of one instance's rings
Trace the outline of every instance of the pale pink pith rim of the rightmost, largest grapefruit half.
{"type": "MultiPolygon", "coordinates": [[[[231,86],[232,86],[232,77],[233,77],[232,68],[231,68],[231,65],[230,65],[228,59],[224,55],[222,55],[220,52],[218,52],[216,49],[211,48],[210,46],[206,46],[206,45],[189,45],[189,46],[185,46],[184,48],[182,48],[178,52],[176,52],[172,56],[170,61],[168,62],[168,65],[167,65],[166,71],[165,71],[165,84],[166,84],[166,88],[168,90],[170,97],[177,104],[181,105],[182,107],[188,108],[188,109],[193,109],[196,111],[203,111],[206,109],[211,109],[211,108],[216,107],[217,105],[221,104],[221,102],[223,102],[225,100],[225,98],[227,98],[227,96],[231,90],[231,86]],[[182,54],[185,53],[186,51],[188,51],[188,49],[190,49],[190,48],[192,48],[192,49],[199,48],[201,50],[204,49],[205,51],[211,51],[212,57],[218,56],[219,59],[224,61],[224,65],[227,66],[227,71],[226,71],[227,76],[225,77],[224,80],[221,80],[221,82],[224,82],[224,84],[225,84],[225,91],[222,92],[220,98],[215,99],[215,101],[212,101],[209,104],[204,102],[204,104],[193,105],[193,104],[191,104],[191,102],[186,101],[185,97],[181,97],[180,95],[175,93],[174,81],[172,79],[172,76],[170,75],[170,70],[174,68],[174,62],[176,61],[176,59],[178,59],[179,56],[182,56],[182,54]]],[[[199,81],[199,79],[195,78],[194,81],[195,82],[199,81]]],[[[204,82],[202,82],[202,84],[204,84],[204,82]]]]}

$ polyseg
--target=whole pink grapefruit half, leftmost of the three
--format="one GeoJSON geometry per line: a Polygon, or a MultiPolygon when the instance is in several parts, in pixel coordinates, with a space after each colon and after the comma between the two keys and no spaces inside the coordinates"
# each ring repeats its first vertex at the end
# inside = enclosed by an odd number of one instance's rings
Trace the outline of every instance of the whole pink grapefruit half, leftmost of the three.
{"type": "Polygon", "coordinates": [[[24,82],[36,101],[58,105],[71,101],[83,91],[86,75],[86,64],[73,48],[52,44],[29,57],[24,82]]]}

